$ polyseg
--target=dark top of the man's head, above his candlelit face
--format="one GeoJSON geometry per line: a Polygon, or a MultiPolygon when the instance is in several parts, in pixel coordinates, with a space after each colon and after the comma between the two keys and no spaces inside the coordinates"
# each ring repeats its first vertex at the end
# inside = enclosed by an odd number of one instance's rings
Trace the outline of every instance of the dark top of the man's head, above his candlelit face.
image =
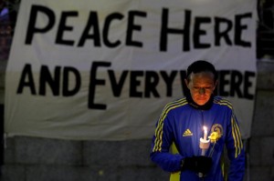
{"type": "Polygon", "coordinates": [[[189,80],[189,75],[191,75],[191,73],[196,74],[196,73],[201,73],[201,72],[213,73],[214,80],[216,81],[217,73],[216,73],[215,66],[205,60],[197,60],[194,63],[192,63],[191,65],[189,65],[186,70],[186,78],[187,78],[187,80],[189,80]]]}

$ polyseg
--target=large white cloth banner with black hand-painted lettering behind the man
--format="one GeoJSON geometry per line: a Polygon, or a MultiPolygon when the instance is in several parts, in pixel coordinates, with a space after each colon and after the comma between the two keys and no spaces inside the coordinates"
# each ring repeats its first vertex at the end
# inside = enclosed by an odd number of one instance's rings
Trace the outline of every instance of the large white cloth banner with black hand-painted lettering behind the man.
{"type": "Polygon", "coordinates": [[[8,135],[151,138],[198,59],[250,136],[256,0],[22,0],[5,79],[8,135]]]}

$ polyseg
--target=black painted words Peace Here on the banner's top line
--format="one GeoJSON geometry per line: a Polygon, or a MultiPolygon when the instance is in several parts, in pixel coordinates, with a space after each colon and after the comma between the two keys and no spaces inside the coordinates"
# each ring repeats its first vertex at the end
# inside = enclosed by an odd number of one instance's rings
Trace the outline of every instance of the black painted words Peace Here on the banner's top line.
{"type": "MultiPolygon", "coordinates": [[[[54,32],[56,45],[68,45],[82,47],[87,42],[92,41],[95,47],[101,47],[105,45],[109,48],[115,48],[120,45],[143,47],[143,42],[138,37],[141,36],[142,30],[146,25],[136,23],[138,19],[148,18],[148,13],[139,10],[131,10],[128,15],[122,15],[119,12],[113,12],[106,15],[105,19],[99,19],[99,12],[90,11],[89,17],[86,22],[80,24],[78,28],[81,29],[81,35],[78,38],[72,38],[72,35],[76,35],[75,26],[70,20],[79,19],[79,11],[62,11],[55,13],[52,9],[42,5],[32,5],[29,15],[29,21],[26,30],[26,45],[31,45],[35,35],[45,35],[50,31],[54,32]],[[59,15],[60,14],[60,15],[59,15]],[[37,21],[38,15],[44,15],[47,17],[45,25],[40,25],[41,22],[37,21]],[[59,17],[57,19],[57,16],[59,17]],[[127,21],[126,30],[123,39],[113,39],[111,33],[113,33],[111,27],[113,25],[122,25],[124,21],[127,21]],[[102,22],[101,22],[102,21],[102,22]],[[102,27],[100,28],[100,23],[102,27]],[[111,31],[112,30],[112,31],[111,31]],[[66,37],[65,37],[66,35],[66,37]]],[[[210,16],[194,16],[191,10],[184,10],[184,16],[182,16],[182,28],[174,27],[172,22],[172,10],[168,8],[162,9],[161,22],[159,22],[159,32],[155,32],[154,35],[158,36],[157,44],[159,44],[159,51],[168,51],[169,41],[168,37],[175,35],[178,38],[182,38],[182,51],[191,51],[191,47],[194,49],[205,49],[213,46],[221,45],[237,45],[243,47],[250,47],[251,41],[244,39],[248,37],[246,35],[249,27],[248,21],[251,20],[251,13],[244,13],[234,15],[233,19],[227,17],[210,17],[210,16]],[[193,20],[193,22],[192,22],[193,20]],[[208,28],[213,26],[213,28],[208,28]],[[207,38],[206,35],[214,35],[213,38],[207,38]]],[[[146,22],[146,21],[142,21],[146,22]]]]}

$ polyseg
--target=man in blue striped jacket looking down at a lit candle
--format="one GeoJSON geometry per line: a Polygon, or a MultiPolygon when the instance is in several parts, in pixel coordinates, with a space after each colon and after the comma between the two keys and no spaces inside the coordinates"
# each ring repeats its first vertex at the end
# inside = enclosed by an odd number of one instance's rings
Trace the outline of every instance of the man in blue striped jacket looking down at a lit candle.
{"type": "Polygon", "coordinates": [[[209,62],[200,60],[189,65],[184,80],[189,94],[167,104],[159,117],[150,156],[163,170],[172,173],[171,180],[225,180],[222,170],[225,146],[230,160],[228,180],[243,180],[245,153],[237,118],[227,99],[213,95],[216,76],[215,66],[209,62]],[[204,126],[210,138],[214,134],[217,137],[211,139],[201,156],[204,126]],[[176,154],[170,153],[171,147],[176,154]]]}

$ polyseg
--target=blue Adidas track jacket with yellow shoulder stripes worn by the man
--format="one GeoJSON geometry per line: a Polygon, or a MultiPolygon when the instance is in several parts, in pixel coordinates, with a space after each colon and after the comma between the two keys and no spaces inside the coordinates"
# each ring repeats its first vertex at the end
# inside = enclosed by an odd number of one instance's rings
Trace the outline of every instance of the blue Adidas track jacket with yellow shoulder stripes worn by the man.
{"type": "MultiPolygon", "coordinates": [[[[186,98],[171,102],[163,108],[153,136],[151,159],[163,170],[181,172],[181,160],[186,156],[200,156],[200,137],[204,136],[203,126],[208,128],[208,136],[216,131],[221,137],[207,149],[205,156],[213,149],[213,166],[205,176],[205,181],[225,180],[222,170],[222,154],[227,146],[230,160],[229,181],[243,180],[245,171],[245,154],[237,118],[233,107],[227,99],[215,96],[208,110],[191,106],[186,98]],[[174,144],[178,154],[170,153],[174,144]]],[[[195,172],[185,170],[178,176],[180,181],[201,180],[195,172]]],[[[173,179],[174,180],[174,179],[173,179]]]]}

